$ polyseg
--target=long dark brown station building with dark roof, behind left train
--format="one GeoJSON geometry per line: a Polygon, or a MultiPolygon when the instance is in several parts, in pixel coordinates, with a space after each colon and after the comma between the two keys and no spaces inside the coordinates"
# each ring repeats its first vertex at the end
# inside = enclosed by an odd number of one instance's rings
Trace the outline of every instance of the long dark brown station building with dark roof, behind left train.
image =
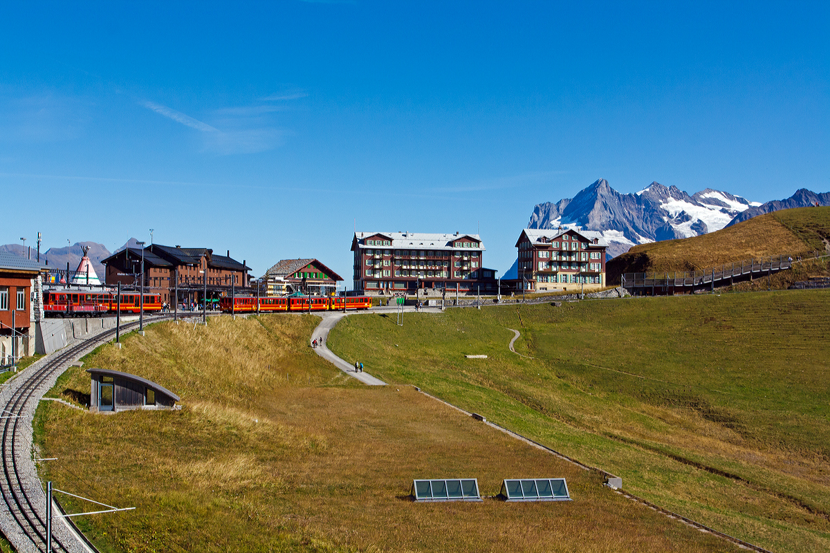
{"type": "Polygon", "coordinates": [[[152,244],[144,248],[126,248],[102,260],[106,266],[105,282],[109,286],[121,283],[138,289],[144,278],[144,289],[157,292],[164,303],[173,303],[178,279],[178,303],[202,303],[205,284],[207,300],[247,291],[251,285],[251,270],[243,260],[240,263],[227,255],[216,255],[208,248],[182,248],[152,244]],[[144,274],[141,258],[144,255],[144,274]],[[207,283],[205,282],[207,278],[207,283]]]}

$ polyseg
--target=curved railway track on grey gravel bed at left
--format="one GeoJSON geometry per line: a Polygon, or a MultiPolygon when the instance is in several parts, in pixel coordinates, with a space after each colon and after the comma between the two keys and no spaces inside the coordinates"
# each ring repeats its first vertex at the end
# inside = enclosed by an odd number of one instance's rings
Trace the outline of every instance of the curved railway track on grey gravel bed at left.
{"type": "MultiPolygon", "coordinates": [[[[164,316],[149,319],[149,323],[172,318],[164,316]]],[[[137,327],[138,322],[122,325],[122,330],[137,327]]],[[[11,517],[17,524],[17,529],[25,539],[7,538],[17,551],[46,551],[46,494],[41,487],[37,473],[27,474],[27,468],[21,467],[21,460],[32,454],[32,427],[25,424],[31,419],[37,409],[37,403],[42,395],[82,352],[91,350],[100,343],[108,342],[115,336],[115,328],[100,332],[95,337],[66,347],[56,357],[47,360],[43,366],[37,367],[10,397],[2,402],[2,463],[3,472],[0,478],[0,492],[5,503],[7,517],[11,517]],[[27,543],[28,541],[28,543],[27,543]],[[15,543],[17,542],[17,543],[15,543]],[[25,547],[26,549],[22,549],[25,547]]],[[[17,378],[22,377],[17,376],[17,378]]],[[[11,520],[9,521],[11,522],[11,520]]],[[[8,529],[7,529],[8,530],[8,529]]],[[[22,537],[16,536],[16,537],[22,537]]],[[[52,551],[75,553],[76,551],[90,551],[87,546],[78,542],[74,536],[66,531],[62,524],[52,524],[52,551]]]]}

